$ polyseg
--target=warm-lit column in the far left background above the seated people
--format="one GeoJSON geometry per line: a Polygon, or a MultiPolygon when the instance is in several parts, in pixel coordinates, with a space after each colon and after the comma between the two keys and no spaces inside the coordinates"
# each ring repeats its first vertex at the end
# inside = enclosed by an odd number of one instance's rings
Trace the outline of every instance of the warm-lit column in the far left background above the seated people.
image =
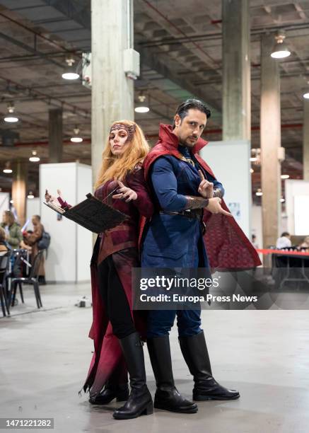
{"type": "Polygon", "coordinates": [[[25,224],[27,182],[28,163],[18,161],[13,165],[12,200],[21,226],[25,224]]]}

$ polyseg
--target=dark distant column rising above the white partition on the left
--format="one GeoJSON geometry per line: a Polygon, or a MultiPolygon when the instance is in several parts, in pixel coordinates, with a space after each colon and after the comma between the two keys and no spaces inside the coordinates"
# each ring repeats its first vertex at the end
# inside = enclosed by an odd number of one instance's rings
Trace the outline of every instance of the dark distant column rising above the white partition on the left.
{"type": "Polygon", "coordinates": [[[51,108],[49,110],[49,162],[62,162],[62,108],[51,108]]]}

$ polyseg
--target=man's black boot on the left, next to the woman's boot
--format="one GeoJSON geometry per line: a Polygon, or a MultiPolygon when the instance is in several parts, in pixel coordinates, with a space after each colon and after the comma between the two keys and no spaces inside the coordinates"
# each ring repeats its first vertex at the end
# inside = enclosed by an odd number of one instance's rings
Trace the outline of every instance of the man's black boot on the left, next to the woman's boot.
{"type": "Polygon", "coordinates": [[[169,336],[147,338],[147,346],[157,385],[154,407],[170,412],[197,412],[197,405],[182,397],[175,387],[169,336]]]}

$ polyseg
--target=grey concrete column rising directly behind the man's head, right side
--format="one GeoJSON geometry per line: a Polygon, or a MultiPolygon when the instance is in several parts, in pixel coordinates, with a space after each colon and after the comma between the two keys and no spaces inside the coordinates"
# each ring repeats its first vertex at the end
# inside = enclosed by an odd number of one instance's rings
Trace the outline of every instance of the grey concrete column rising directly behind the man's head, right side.
{"type": "Polygon", "coordinates": [[[249,0],[223,0],[223,141],[251,138],[249,0]]]}

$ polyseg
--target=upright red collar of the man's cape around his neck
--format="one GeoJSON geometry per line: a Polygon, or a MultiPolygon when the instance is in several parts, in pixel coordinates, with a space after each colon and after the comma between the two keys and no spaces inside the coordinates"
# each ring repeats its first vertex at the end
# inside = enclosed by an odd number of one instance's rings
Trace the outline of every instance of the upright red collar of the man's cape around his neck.
{"type": "MultiPolygon", "coordinates": [[[[205,163],[205,161],[202,160],[202,158],[199,158],[198,156],[198,152],[203,149],[206,144],[208,144],[208,142],[205,140],[198,139],[197,143],[192,147],[192,153],[197,158],[204,170],[214,176],[211,168],[205,163]]],[[[158,142],[155,144],[155,146],[153,146],[153,149],[151,149],[144,160],[145,178],[148,178],[149,168],[151,167],[152,163],[160,156],[173,155],[176,158],[182,159],[183,156],[180,154],[178,146],[179,141],[177,136],[173,133],[172,125],[163,125],[161,123],[158,142]]]]}

